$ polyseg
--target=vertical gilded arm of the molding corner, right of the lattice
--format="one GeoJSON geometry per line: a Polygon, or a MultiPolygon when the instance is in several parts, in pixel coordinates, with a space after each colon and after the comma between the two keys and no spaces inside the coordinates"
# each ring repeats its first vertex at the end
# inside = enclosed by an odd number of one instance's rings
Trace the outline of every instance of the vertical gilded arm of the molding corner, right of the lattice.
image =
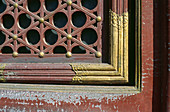
{"type": "Polygon", "coordinates": [[[128,77],[128,12],[122,15],[110,10],[111,64],[128,77]]]}

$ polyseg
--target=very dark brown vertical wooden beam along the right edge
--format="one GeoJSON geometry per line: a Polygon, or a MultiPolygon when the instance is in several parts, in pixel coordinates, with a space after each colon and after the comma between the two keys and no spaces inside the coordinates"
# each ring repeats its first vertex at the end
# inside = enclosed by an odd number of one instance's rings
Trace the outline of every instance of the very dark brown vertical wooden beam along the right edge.
{"type": "MultiPolygon", "coordinates": [[[[170,3],[169,3],[170,4],[170,3]]],[[[154,1],[153,112],[169,112],[168,91],[168,0],[154,1]],[[161,17],[161,18],[160,18],[161,17]]]]}

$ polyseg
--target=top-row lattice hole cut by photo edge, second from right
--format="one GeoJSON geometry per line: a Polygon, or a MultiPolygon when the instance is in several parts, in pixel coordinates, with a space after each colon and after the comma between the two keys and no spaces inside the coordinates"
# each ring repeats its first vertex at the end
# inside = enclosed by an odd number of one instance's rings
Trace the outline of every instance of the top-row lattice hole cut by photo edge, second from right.
{"type": "Polygon", "coordinates": [[[58,7],[58,0],[45,0],[45,7],[48,11],[54,11],[58,7]]]}

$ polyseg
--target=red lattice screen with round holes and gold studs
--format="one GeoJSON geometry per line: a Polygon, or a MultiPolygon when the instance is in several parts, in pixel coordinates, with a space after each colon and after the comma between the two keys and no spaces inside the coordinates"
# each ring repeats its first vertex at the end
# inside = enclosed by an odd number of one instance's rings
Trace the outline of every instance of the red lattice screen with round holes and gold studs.
{"type": "Polygon", "coordinates": [[[0,0],[1,57],[101,57],[102,3],[0,0]]]}

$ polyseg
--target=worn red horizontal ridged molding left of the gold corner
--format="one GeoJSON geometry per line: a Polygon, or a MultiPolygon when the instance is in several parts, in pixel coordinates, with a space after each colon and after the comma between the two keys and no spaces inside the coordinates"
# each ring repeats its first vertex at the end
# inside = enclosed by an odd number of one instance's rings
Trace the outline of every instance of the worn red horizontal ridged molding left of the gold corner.
{"type": "Polygon", "coordinates": [[[7,63],[0,76],[5,78],[5,82],[70,83],[75,72],[69,64],[7,63]]]}

